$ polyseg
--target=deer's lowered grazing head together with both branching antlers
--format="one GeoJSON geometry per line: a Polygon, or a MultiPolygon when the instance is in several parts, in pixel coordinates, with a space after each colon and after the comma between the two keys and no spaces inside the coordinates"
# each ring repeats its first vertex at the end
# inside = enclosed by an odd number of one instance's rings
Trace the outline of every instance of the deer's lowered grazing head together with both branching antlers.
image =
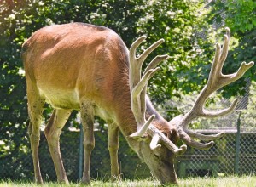
{"type": "MultiPolygon", "coordinates": [[[[212,68],[207,81],[207,85],[201,90],[195,100],[195,104],[192,109],[188,111],[185,115],[176,116],[171,122],[166,123],[164,120],[160,119],[162,127],[168,126],[166,129],[170,129],[172,132],[166,132],[164,129],[156,125],[159,123],[159,119],[154,119],[155,115],[147,115],[146,103],[147,96],[147,84],[148,80],[154,76],[154,74],[160,70],[156,67],[160,61],[167,58],[167,55],[157,56],[153,59],[148,67],[145,69],[143,74],[141,74],[143,61],[147,58],[155,48],[157,48],[160,43],[164,42],[160,39],[158,42],[154,42],[152,46],[146,49],[143,54],[138,58],[136,57],[137,47],[145,40],[146,37],[139,37],[132,45],[130,49],[130,89],[131,89],[131,110],[135,116],[137,122],[137,131],[131,134],[132,139],[140,139],[142,137],[149,136],[150,144],[142,143],[146,148],[140,148],[143,155],[143,159],[148,164],[148,167],[154,173],[157,178],[160,178],[161,183],[177,183],[177,177],[173,167],[173,159],[179,154],[183,154],[187,149],[187,145],[195,147],[197,149],[209,149],[213,145],[214,139],[219,139],[224,136],[224,133],[204,135],[201,133],[195,133],[189,130],[189,124],[195,120],[197,117],[218,117],[229,114],[234,111],[238,99],[235,99],[229,108],[222,111],[207,111],[204,109],[207,98],[218,90],[231,82],[235,82],[237,79],[243,76],[243,74],[253,66],[253,62],[241,64],[241,67],[236,73],[230,75],[224,75],[222,73],[222,68],[224,61],[228,54],[228,46],[230,42],[230,29],[226,28],[226,35],[224,35],[223,47],[217,43],[216,53],[212,61],[212,68]],[[166,134],[170,134],[166,137],[166,134]],[[210,141],[208,143],[200,143],[195,140],[201,139],[210,141]],[[181,147],[177,147],[177,139],[181,139],[183,144],[181,147]],[[147,144],[147,145],[146,145],[147,144]],[[186,145],[187,144],[187,145],[186,145]],[[150,150],[149,150],[150,149],[150,150]],[[154,158],[155,157],[155,158],[154,158]]],[[[143,141],[143,140],[142,140],[143,141]]],[[[147,140],[144,140],[147,141],[147,140]]],[[[143,146],[142,146],[143,147],[143,146]]]]}

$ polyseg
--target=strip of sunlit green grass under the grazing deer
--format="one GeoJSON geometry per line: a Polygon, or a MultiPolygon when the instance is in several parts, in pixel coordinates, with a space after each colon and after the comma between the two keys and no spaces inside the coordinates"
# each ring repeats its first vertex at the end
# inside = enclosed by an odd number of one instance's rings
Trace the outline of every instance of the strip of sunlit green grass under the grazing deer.
{"type": "MultiPolygon", "coordinates": [[[[22,181],[0,181],[0,187],[15,187],[15,186],[31,186],[38,187],[37,184],[32,182],[22,182],[22,181]]],[[[57,184],[57,183],[46,183],[42,185],[43,187],[78,187],[82,186],[79,183],[67,184],[57,184]]],[[[118,182],[102,182],[100,180],[92,181],[91,186],[96,187],[143,187],[143,186],[160,186],[160,182],[154,180],[153,178],[143,179],[143,180],[125,180],[118,182]]],[[[173,185],[169,185],[173,186],[173,185]]],[[[179,187],[256,187],[256,176],[231,176],[224,178],[186,178],[179,180],[179,187]]]]}

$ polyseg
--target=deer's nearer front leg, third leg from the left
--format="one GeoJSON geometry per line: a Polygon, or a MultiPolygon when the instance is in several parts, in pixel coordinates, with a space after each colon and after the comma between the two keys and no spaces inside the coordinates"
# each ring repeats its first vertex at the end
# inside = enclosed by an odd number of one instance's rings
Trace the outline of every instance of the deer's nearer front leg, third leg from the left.
{"type": "Polygon", "coordinates": [[[84,173],[82,183],[90,184],[90,155],[95,147],[93,133],[94,108],[90,103],[82,102],[80,112],[84,130],[84,173]]]}

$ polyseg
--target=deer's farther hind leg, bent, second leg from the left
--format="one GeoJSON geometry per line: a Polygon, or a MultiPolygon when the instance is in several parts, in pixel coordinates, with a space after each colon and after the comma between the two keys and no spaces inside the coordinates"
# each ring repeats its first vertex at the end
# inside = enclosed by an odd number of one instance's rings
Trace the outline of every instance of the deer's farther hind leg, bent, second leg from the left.
{"type": "Polygon", "coordinates": [[[49,122],[44,130],[45,137],[49,145],[49,152],[55,164],[55,171],[57,174],[58,182],[66,184],[68,184],[68,180],[61,159],[59,139],[61,135],[61,129],[67,122],[67,119],[70,116],[70,114],[71,110],[55,110],[52,116],[50,117],[49,122]]]}

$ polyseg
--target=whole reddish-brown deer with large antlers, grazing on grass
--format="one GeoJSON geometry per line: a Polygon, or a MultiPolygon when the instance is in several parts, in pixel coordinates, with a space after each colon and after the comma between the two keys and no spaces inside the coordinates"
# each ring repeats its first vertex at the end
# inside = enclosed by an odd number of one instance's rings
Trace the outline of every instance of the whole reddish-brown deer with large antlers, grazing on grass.
{"type": "Polygon", "coordinates": [[[83,125],[83,184],[90,184],[95,116],[108,123],[108,150],[113,181],[121,179],[119,131],[161,184],[178,183],[174,161],[177,155],[186,151],[187,145],[196,149],[210,149],[214,139],[224,136],[224,132],[210,135],[196,133],[189,130],[189,124],[198,117],[224,116],[236,108],[237,99],[221,111],[207,111],[204,107],[210,94],[235,82],[253,66],[253,62],[243,62],[235,73],[222,73],[228,54],[230,29],[226,28],[223,47],[216,44],[207,84],[195,104],[186,114],[176,116],[170,122],[155,110],[147,95],[148,80],[160,70],[158,65],[168,55],[157,55],[142,73],[143,62],[164,39],[154,42],[137,56],[137,48],[145,39],[145,36],[138,37],[129,50],[119,35],[107,27],[69,23],[45,26],[35,31],[22,45],[30,118],[28,132],[35,181],[38,184],[43,184],[38,145],[46,102],[53,107],[53,113],[44,134],[60,183],[68,184],[68,179],[61,159],[59,139],[61,129],[73,110],[80,111],[83,125]],[[180,147],[177,146],[178,140],[184,143],[180,147]]]}

